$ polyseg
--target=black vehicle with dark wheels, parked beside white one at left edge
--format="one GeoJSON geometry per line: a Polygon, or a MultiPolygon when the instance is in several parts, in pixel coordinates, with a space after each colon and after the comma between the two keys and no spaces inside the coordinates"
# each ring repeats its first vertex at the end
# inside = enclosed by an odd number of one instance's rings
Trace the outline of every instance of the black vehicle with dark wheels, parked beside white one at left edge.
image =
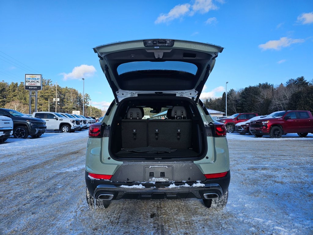
{"type": "Polygon", "coordinates": [[[0,108],[0,116],[6,116],[13,120],[14,138],[40,137],[46,132],[46,122],[40,118],[27,117],[23,113],[13,109],[0,108]]]}

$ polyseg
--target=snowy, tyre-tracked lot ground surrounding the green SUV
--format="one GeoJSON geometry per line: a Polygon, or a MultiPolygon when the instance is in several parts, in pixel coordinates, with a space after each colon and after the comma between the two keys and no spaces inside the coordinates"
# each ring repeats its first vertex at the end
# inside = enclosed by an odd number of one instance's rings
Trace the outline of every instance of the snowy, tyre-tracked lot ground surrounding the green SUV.
{"type": "Polygon", "coordinates": [[[85,200],[88,131],[10,138],[0,145],[0,234],[313,234],[313,134],[228,133],[224,209],[202,200],[85,200]]]}

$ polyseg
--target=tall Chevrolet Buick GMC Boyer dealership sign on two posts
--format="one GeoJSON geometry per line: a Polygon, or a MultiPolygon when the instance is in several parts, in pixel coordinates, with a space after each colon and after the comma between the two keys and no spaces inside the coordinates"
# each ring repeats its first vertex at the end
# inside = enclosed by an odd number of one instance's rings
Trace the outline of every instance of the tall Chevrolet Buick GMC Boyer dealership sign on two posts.
{"type": "Polygon", "coordinates": [[[32,112],[32,97],[35,97],[35,112],[37,112],[37,91],[42,90],[41,74],[25,74],[25,90],[29,91],[29,114],[32,112]],[[33,94],[33,91],[35,94],[33,94]]]}

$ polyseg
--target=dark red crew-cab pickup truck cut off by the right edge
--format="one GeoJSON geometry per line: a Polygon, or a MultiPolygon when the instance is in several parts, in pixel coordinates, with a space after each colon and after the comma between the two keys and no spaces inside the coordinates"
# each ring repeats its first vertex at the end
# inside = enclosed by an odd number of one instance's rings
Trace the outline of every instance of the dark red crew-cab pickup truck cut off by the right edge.
{"type": "Polygon", "coordinates": [[[273,112],[262,120],[250,122],[250,132],[255,137],[269,135],[271,138],[280,138],[286,133],[298,133],[305,137],[313,133],[313,117],[310,111],[273,112]]]}

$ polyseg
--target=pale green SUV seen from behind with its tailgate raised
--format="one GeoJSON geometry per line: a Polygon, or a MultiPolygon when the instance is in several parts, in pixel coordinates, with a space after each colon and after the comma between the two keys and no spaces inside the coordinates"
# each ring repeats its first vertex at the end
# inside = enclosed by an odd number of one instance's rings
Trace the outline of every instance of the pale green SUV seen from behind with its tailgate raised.
{"type": "Polygon", "coordinates": [[[198,198],[207,207],[224,207],[230,181],[226,128],[199,100],[223,48],[151,39],[94,51],[115,99],[89,128],[88,205],[198,198]]]}

